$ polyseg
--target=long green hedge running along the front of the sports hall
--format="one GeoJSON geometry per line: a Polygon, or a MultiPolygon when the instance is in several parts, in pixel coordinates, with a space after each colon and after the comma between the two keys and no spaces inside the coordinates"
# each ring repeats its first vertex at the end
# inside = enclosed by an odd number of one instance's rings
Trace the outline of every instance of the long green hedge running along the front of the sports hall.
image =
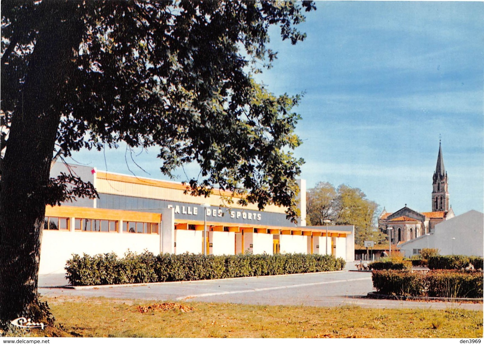
{"type": "Polygon", "coordinates": [[[67,261],[71,285],[132,284],[198,281],[219,278],[281,275],[342,270],[345,260],[320,254],[159,254],[128,252],[82,257],[67,261]]]}

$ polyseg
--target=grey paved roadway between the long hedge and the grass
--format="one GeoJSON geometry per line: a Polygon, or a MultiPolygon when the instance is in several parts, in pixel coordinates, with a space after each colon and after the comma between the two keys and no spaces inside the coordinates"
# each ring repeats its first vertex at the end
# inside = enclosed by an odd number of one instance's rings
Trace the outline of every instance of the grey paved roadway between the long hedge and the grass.
{"type": "Polygon", "coordinates": [[[363,298],[373,291],[371,274],[358,271],[305,273],[225,280],[166,282],[89,289],[50,287],[66,284],[61,275],[39,277],[39,293],[54,296],[106,297],[162,301],[229,302],[255,305],[361,306],[368,308],[461,308],[483,310],[483,304],[397,301],[363,298]]]}

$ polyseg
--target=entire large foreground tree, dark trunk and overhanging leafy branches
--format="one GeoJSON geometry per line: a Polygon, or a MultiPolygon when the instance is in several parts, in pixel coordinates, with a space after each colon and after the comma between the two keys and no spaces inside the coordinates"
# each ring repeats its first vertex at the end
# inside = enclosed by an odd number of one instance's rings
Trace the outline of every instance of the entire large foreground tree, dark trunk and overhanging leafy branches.
{"type": "MultiPolygon", "coordinates": [[[[42,314],[45,205],[96,195],[54,157],[83,147],[160,147],[168,176],[189,162],[212,187],[295,218],[298,96],[252,75],[270,66],[268,29],[292,44],[312,1],[2,1],[0,322],[42,314]]],[[[39,321],[39,318],[35,319],[39,321]]]]}

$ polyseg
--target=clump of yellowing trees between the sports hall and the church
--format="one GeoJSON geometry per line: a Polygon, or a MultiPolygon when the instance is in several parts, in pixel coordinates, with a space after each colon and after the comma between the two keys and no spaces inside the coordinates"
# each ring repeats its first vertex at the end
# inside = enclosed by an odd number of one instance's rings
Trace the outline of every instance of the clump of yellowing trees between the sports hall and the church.
{"type": "Polygon", "coordinates": [[[324,225],[323,220],[354,225],[355,243],[363,245],[364,240],[384,241],[377,229],[378,204],[366,199],[358,188],[342,184],[335,189],[328,182],[319,182],[307,191],[306,207],[308,225],[324,225]]]}

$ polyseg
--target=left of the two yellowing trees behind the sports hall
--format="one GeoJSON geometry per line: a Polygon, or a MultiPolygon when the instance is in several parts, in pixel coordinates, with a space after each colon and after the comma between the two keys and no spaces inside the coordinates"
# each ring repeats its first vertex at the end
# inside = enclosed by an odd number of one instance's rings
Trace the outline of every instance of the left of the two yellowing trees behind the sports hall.
{"type": "Polygon", "coordinates": [[[336,211],[333,202],[336,199],[336,190],[328,182],[318,182],[316,186],[306,192],[306,224],[319,226],[324,220],[334,221],[336,211]]]}

